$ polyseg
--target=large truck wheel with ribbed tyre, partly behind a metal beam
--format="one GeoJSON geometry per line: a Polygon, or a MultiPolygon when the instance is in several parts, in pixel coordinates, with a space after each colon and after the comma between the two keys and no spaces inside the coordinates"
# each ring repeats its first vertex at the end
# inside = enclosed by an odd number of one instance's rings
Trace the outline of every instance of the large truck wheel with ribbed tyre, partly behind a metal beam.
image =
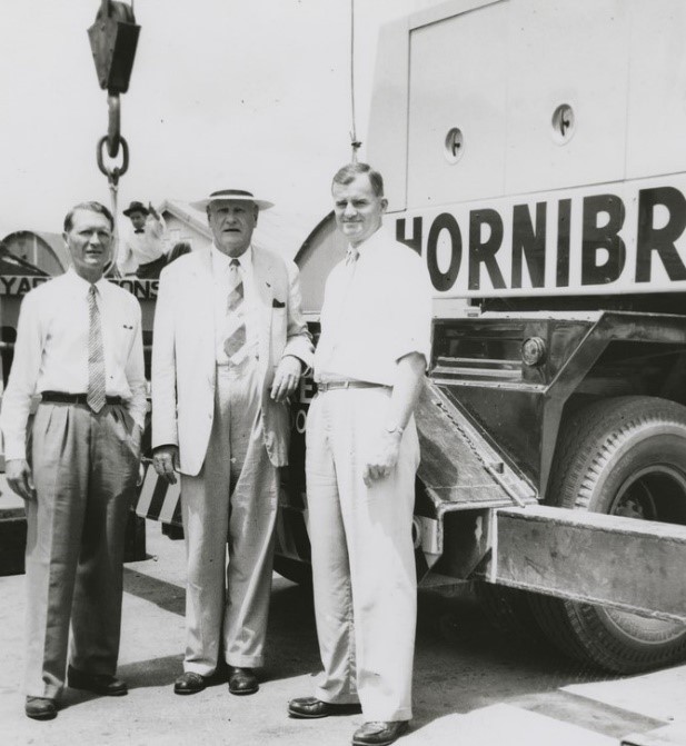
{"type": "MultiPolygon", "coordinates": [[[[686,407],[618,397],[565,424],[546,503],[644,520],[686,524],[686,407]]],[[[531,608],[564,653],[628,674],[686,657],[686,625],[531,595],[531,608]]]]}

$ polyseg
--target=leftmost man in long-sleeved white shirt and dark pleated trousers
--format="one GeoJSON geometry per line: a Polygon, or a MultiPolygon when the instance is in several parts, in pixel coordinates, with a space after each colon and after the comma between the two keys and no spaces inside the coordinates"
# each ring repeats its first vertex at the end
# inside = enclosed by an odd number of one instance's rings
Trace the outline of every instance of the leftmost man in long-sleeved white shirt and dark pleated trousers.
{"type": "Polygon", "coordinates": [[[67,215],[72,266],[23,299],[2,399],[7,481],[27,510],[24,686],[34,719],[57,715],[70,623],[68,685],[127,693],[115,674],[146,379],[140,306],[102,276],[112,230],[99,202],[67,215]]]}

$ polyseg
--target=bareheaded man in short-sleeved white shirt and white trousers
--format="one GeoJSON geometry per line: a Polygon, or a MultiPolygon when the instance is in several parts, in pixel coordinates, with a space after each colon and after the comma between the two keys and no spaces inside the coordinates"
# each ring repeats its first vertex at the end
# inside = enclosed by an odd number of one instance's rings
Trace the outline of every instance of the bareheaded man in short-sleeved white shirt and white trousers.
{"type": "Polygon", "coordinates": [[[332,182],[347,257],[326,284],[307,426],[307,498],[324,672],[297,718],[361,705],[355,746],[395,742],[411,718],[417,611],[411,537],[419,445],[412,410],[430,351],[431,292],[411,249],[381,230],[381,176],[332,182]]]}

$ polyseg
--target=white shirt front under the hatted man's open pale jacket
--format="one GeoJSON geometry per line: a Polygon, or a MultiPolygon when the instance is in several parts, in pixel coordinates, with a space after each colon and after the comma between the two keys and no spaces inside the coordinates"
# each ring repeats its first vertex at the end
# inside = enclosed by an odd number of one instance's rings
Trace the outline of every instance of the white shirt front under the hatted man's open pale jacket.
{"type": "MultiPolygon", "coordinates": [[[[259,350],[259,305],[255,287],[255,271],[252,269],[252,246],[249,246],[240,257],[238,271],[243,281],[243,307],[246,321],[246,339],[248,356],[257,357],[259,350]]],[[[213,243],[210,248],[212,268],[213,306],[215,306],[215,348],[217,365],[228,365],[229,358],[223,350],[226,339],[225,326],[227,302],[231,289],[231,257],[220,251],[213,243]]]]}

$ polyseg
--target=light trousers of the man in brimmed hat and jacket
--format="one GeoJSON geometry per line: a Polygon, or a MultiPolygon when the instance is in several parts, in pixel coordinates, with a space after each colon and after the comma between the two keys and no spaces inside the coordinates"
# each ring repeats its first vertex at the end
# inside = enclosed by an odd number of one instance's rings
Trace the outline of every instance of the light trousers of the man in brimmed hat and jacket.
{"type": "Polygon", "coordinates": [[[262,441],[260,401],[255,365],[238,374],[217,367],[205,462],[198,476],[181,476],[183,669],[201,676],[213,673],[221,647],[230,666],[264,664],[278,483],[262,441]]]}

